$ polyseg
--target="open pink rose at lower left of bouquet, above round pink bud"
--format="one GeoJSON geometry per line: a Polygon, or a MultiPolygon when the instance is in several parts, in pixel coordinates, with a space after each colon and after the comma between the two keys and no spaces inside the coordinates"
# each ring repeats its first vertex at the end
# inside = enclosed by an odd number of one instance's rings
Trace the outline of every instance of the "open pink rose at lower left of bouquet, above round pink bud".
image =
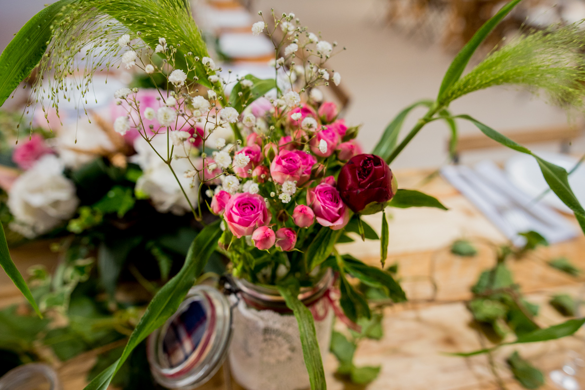
{"type": "Polygon", "coordinates": [[[225,205],[223,219],[236,237],[249,236],[256,228],[270,222],[272,214],[264,198],[249,192],[235,194],[225,205]]]}

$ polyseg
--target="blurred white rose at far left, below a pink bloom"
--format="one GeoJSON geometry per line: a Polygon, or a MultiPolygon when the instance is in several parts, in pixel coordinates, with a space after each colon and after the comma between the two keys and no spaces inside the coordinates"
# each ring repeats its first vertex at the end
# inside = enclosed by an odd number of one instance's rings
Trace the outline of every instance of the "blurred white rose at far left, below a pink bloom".
{"type": "Polygon", "coordinates": [[[63,168],[55,155],[45,155],[16,179],[7,202],[15,218],[12,227],[33,238],[73,217],[79,199],[63,168]]]}

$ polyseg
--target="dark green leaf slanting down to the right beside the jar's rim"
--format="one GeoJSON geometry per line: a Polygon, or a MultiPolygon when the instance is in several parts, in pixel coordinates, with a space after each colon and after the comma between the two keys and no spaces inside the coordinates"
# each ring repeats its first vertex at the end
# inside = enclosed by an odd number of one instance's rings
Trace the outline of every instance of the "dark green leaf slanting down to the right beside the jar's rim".
{"type": "Polygon", "coordinates": [[[371,267],[350,255],[344,255],[342,259],[346,271],[353,277],[358,278],[370,287],[383,288],[394,302],[406,301],[404,290],[394,280],[390,272],[371,267]]]}

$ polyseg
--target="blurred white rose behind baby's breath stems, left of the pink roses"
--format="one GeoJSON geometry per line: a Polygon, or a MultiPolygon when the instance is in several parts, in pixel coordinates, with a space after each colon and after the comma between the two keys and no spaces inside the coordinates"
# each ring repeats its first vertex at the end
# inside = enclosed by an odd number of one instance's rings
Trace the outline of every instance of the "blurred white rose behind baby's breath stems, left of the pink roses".
{"type": "MultiPolygon", "coordinates": [[[[167,155],[167,137],[154,137],[151,141],[154,148],[161,155],[167,155]]],[[[168,166],[161,161],[150,145],[142,137],[134,141],[136,155],[133,162],[140,165],[143,175],[136,182],[136,190],[147,194],[152,200],[154,208],[159,213],[168,213],[169,211],[176,215],[183,215],[191,211],[189,203],[181,191],[181,187],[173,176],[168,166]]],[[[174,156],[184,156],[181,148],[174,148],[174,156]]],[[[197,176],[193,178],[184,177],[187,170],[191,170],[191,163],[186,158],[173,158],[171,166],[181,182],[181,186],[187,193],[193,207],[197,207],[199,199],[199,182],[197,176]],[[193,181],[195,180],[195,181],[193,181]],[[191,187],[191,184],[194,184],[191,187]]]]}

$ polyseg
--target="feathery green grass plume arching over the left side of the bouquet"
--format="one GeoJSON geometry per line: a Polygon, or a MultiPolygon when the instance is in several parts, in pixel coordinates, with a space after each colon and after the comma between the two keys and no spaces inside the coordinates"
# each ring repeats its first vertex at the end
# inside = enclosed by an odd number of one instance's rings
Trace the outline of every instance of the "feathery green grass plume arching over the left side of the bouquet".
{"type": "MultiPolygon", "coordinates": [[[[73,0],[63,6],[51,27],[53,38],[39,64],[39,77],[33,86],[37,97],[47,80],[51,106],[58,109],[61,98],[70,99],[72,88],[87,103],[90,81],[95,72],[106,71],[126,55],[126,67],[136,64],[146,48],[153,50],[164,41],[160,56],[173,68],[175,77],[199,79],[206,86],[208,74],[199,58],[207,57],[207,47],[191,16],[189,2],[182,0],[73,0]],[[133,58],[130,58],[132,55],[133,58]],[[68,76],[75,75],[74,83],[68,76]]],[[[142,65],[140,65],[142,67],[142,65]]],[[[168,69],[170,70],[170,69],[168,69]]],[[[218,90],[219,92],[219,90],[218,90]]],[[[45,107],[43,106],[43,110],[45,107]]]]}

